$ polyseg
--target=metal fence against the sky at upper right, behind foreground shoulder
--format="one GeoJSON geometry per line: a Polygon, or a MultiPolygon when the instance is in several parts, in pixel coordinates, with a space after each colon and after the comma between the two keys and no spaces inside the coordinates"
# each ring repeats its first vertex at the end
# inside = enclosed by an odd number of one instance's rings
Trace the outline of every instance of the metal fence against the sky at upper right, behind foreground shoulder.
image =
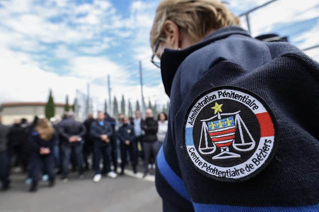
{"type": "Polygon", "coordinates": [[[276,33],[319,61],[319,0],[270,0],[240,14],[252,36],[276,33]]]}

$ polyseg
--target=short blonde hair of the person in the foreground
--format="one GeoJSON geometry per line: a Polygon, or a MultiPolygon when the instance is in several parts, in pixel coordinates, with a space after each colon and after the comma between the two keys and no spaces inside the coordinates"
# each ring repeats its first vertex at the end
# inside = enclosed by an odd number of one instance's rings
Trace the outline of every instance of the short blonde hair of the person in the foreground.
{"type": "Polygon", "coordinates": [[[212,30],[240,24],[239,17],[220,0],[162,0],[151,30],[152,49],[157,40],[166,38],[163,32],[166,20],[173,21],[195,41],[202,40],[212,30]]]}

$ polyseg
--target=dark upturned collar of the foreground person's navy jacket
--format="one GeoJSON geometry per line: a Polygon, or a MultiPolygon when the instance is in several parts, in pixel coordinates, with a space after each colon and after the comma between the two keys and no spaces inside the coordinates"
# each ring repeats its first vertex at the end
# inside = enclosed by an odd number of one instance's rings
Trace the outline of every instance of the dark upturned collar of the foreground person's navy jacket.
{"type": "Polygon", "coordinates": [[[202,41],[182,50],[165,49],[160,58],[161,78],[164,84],[165,93],[169,96],[174,75],[179,65],[185,58],[196,50],[207,46],[217,40],[224,39],[230,35],[244,35],[250,37],[249,33],[237,26],[223,27],[208,35],[202,41]]]}

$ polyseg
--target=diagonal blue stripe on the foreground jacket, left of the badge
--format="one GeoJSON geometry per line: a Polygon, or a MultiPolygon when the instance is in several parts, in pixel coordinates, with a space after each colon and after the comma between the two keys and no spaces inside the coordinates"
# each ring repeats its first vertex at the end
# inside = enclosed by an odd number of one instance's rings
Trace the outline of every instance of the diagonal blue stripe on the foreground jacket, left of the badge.
{"type": "Polygon", "coordinates": [[[157,164],[158,169],[160,170],[160,174],[165,178],[166,182],[170,185],[170,187],[174,189],[184,199],[191,202],[183,180],[180,177],[178,177],[175,174],[175,172],[169,167],[164,156],[163,147],[160,148],[160,151],[158,153],[157,164]]]}

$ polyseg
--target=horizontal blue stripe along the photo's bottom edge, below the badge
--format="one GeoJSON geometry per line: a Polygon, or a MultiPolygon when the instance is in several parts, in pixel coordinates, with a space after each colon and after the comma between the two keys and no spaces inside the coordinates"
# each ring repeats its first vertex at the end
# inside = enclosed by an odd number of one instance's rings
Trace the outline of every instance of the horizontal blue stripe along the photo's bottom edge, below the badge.
{"type": "Polygon", "coordinates": [[[193,203],[196,212],[318,212],[319,205],[301,207],[240,207],[193,203]]]}

